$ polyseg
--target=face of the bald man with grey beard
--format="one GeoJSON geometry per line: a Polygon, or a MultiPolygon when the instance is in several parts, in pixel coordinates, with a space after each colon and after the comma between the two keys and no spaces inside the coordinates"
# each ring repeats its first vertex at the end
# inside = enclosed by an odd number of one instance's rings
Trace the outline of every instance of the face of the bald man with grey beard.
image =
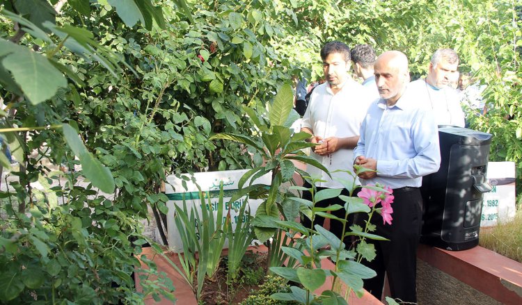
{"type": "Polygon", "coordinates": [[[375,83],[381,99],[395,103],[406,83],[406,74],[389,61],[378,60],[374,66],[375,83]]]}

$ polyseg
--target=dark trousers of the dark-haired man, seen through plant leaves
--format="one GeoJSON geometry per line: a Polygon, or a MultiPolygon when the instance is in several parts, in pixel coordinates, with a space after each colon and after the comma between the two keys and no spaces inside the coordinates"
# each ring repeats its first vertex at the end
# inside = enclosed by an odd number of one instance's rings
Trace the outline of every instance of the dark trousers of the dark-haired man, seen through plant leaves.
{"type": "MultiPolygon", "coordinates": [[[[312,186],[308,182],[305,182],[303,186],[305,188],[312,188],[312,186]]],[[[319,190],[324,190],[324,189],[326,189],[326,188],[319,188],[319,187],[317,187],[316,193],[319,192],[319,190]]],[[[352,194],[352,195],[356,196],[359,190],[360,190],[360,188],[357,188],[356,190],[354,190],[354,192],[353,192],[354,194],[352,194]]],[[[342,189],[340,195],[349,196],[350,194],[349,194],[347,189],[342,189]]],[[[308,192],[308,191],[304,191],[303,190],[303,199],[307,199],[307,200],[312,201],[312,194],[310,192],[308,192]]],[[[340,206],[345,206],[345,201],[342,201],[341,199],[339,199],[339,197],[335,197],[335,198],[326,199],[326,200],[322,200],[322,201],[316,202],[315,203],[315,207],[326,208],[328,206],[332,206],[333,204],[339,204],[340,206]]],[[[331,213],[331,215],[334,215],[335,217],[339,217],[340,219],[344,220],[345,219],[346,210],[345,210],[345,208],[340,208],[339,210],[331,211],[330,213],[331,213]]],[[[305,226],[306,228],[313,227],[312,226],[312,221],[310,219],[308,219],[308,217],[306,217],[304,215],[303,215],[303,220],[301,221],[301,224],[303,224],[303,226],[305,226]]],[[[316,215],[315,219],[314,219],[313,225],[315,226],[316,224],[319,224],[319,226],[322,226],[324,224],[324,217],[316,215]]],[[[345,232],[349,232],[350,231],[349,230],[349,226],[351,226],[352,224],[354,224],[354,214],[348,215],[348,222],[346,224],[345,232]]],[[[341,234],[342,234],[342,222],[340,222],[339,220],[330,219],[330,230],[329,231],[334,233],[335,236],[337,236],[339,239],[342,239],[342,236],[341,236],[341,234]]],[[[343,240],[343,242],[345,242],[345,245],[347,246],[347,249],[349,249],[349,247],[351,246],[351,237],[345,238],[343,240]]]]}

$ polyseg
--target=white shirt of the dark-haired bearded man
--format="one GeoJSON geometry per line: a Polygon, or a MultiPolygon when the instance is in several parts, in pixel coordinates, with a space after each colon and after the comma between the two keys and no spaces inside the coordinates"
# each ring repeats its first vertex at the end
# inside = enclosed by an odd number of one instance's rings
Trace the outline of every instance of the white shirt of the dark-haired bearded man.
{"type": "MultiPolygon", "coordinates": [[[[371,98],[367,95],[367,90],[361,84],[351,79],[345,81],[337,94],[333,94],[328,83],[323,83],[317,86],[310,96],[301,127],[312,130],[314,135],[318,135],[323,139],[358,136],[361,123],[371,101],[371,98]]],[[[351,163],[353,149],[338,149],[338,151],[327,156],[319,156],[312,152],[311,156],[330,172],[334,170],[349,170],[353,172],[351,163]]],[[[318,187],[344,188],[341,183],[331,179],[317,167],[308,165],[306,171],[311,176],[320,176],[322,180],[326,181],[317,183],[316,186],[318,187]]],[[[331,173],[331,176],[348,181],[354,179],[353,176],[345,172],[331,173]]]]}

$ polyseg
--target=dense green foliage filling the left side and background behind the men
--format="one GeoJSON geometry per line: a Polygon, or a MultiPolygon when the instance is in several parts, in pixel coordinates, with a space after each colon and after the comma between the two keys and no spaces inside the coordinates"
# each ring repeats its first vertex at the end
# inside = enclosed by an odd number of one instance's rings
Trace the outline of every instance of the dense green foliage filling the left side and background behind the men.
{"type": "Polygon", "coordinates": [[[456,49],[487,85],[472,127],[493,134],[491,160],[516,163],[520,190],[520,2],[0,1],[1,136],[22,165],[0,192],[0,301],[139,303],[173,290],[158,281],[140,294],[129,277],[139,220],[152,209],[164,224],[161,181],[251,167],[245,148],[259,166],[251,147],[209,137],[254,133],[243,107],[261,115],[292,76],[321,76],[330,40],[404,51],[413,79],[435,49],[456,49]]]}

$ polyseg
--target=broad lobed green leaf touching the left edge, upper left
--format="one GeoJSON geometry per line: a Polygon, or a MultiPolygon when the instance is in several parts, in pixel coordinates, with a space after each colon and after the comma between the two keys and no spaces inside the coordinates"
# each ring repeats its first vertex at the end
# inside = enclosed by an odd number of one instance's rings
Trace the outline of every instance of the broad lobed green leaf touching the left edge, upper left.
{"type": "Polygon", "coordinates": [[[45,56],[29,49],[9,54],[3,58],[2,64],[13,74],[33,105],[54,97],[58,88],[67,87],[63,74],[45,56]]]}

